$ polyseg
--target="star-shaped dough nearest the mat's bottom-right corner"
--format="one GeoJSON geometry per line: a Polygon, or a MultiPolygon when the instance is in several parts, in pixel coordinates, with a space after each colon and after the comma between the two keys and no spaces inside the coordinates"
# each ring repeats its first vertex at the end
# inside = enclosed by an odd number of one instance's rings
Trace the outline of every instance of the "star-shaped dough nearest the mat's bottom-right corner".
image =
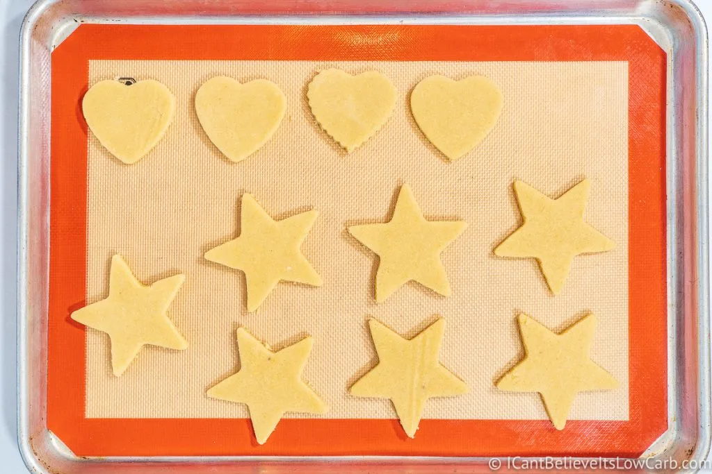
{"type": "Polygon", "coordinates": [[[518,320],[526,356],[497,382],[497,388],[539,392],[556,429],[564,429],[578,392],[618,387],[617,380],[590,359],[596,328],[593,314],[561,334],[552,333],[525,314],[518,320]]]}

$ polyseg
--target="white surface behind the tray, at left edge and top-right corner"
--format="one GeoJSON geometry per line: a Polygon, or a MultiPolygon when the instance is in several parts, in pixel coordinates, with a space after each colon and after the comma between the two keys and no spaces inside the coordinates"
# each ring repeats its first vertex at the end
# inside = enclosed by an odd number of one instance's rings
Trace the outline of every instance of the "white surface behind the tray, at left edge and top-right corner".
{"type": "MultiPolygon", "coordinates": [[[[117,0],[121,1],[121,0],[117,0]]],[[[0,471],[24,473],[16,441],[16,210],[19,32],[33,0],[0,0],[0,471]]],[[[712,23],[712,0],[697,0],[712,23]]],[[[712,140],[711,140],[712,142],[712,140]]]]}

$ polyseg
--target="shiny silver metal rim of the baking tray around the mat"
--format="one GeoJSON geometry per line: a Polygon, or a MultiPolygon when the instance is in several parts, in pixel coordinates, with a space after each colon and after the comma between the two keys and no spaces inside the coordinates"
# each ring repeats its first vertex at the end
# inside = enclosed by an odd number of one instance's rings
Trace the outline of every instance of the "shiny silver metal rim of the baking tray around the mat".
{"type": "MultiPolygon", "coordinates": [[[[283,11],[269,11],[268,16],[254,11],[235,12],[229,2],[214,2],[206,11],[202,1],[194,1],[191,16],[183,2],[174,11],[151,14],[150,0],[143,14],[116,11],[114,1],[100,0],[88,6],[76,0],[39,0],[23,21],[21,33],[20,115],[19,115],[19,248],[18,248],[18,441],[28,468],[37,473],[97,472],[103,468],[148,472],[158,466],[172,470],[210,463],[211,468],[231,472],[236,461],[250,469],[272,465],[278,470],[294,468],[297,462],[307,470],[328,470],[324,461],[344,461],[367,467],[432,468],[447,463],[456,467],[486,467],[486,458],[398,458],[398,457],[161,457],[161,458],[78,458],[61,440],[47,430],[46,409],[46,282],[48,279],[48,110],[51,51],[67,38],[80,23],[440,23],[440,24],[621,24],[634,23],[663,48],[668,57],[667,77],[667,224],[668,224],[668,417],[669,429],[643,454],[644,458],[699,462],[706,458],[711,443],[710,412],[710,340],[708,295],[708,183],[707,183],[707,33],[700,12],[690,0],[627,0],[615,9],[603,8],[597,0],[526,0],[506,11],[468,0],[449,2],[449,8],[432,10],[432,3],[411,5],[412,11],[397,11],[393,4],[377,1],[320,1],[306,4],[318,15],[289,14],[295,3],[282,3],[283,11]],[[104,6],[101,15],[92,8],[104,6]],[[465,9],[470,10],[463,14],[465,9]],[[112,9],[113,8],[113,9],[112,9]],[[231,11],[228,11],[232,9],[231,11]],[[320,14],[328,9],[330,14],[320,14]],[[518,9],[514,11],[514,9],[518,9]],[[86,11],[84,11],[86,10],[86,11]],[[334,11],[367,11],[360,15],[335,15],[334,11]],[[220,16],[229,13],[227,16],[220,16]],[[394,15],[395,14],[395,15],[394,15]],[[696,87],[685,87],[693,82],[696,87]],[[690,102],[692,100],[692,102],[690,102]],[[683,106],[693,103],[694,107],[683,106]],[[692,131],[693,139],[684,131],[692,131]],[[688,138],[686,140],[686,137],[688,138]],[[38,169],[37,169],[38,167],[38,169]],[[687,206],[684,203],[688,203],[687,206]],[[691,270],[689,270],[691,266],[691,270]],[[690,273],[690,271],[692,273],[690,273]],[[694,281],[688,281],[692,276],[694,281]],[[41,295],[38,298],[36,295],[41,295]],[[681,331],[686,318],[695,324],[691,331],[681,331]],[[681,334],[684,333],[684,334],[681,334]],[[685,340],[684,335],[691,340],[685,340]],[[686,361],[684,349],[693,344],[696,360],[686,361]],[[37,346],[37,347],[36,347],[37,346]],[[683,366],[684,363],[692,366],[683,366]],[[695,364],[696,362],[696,364],[695,364]],[[677,383],[680,371],[693,370],[685,379],[693,387],[677,383]],[[696,387],[694,387],[696,385],[696,387]],[[690,392],[690,388],[694,392],[690,392]],[[682,404],[686,403],[685,406],[682,404]],[[688,417],[693,415],[694,420],[688,417]],[[110,462],[103,462],[110,461],[110,462]],[[129,463],[130,462],[130,463],[129,463]],[[412,465],[412,466],[411,466],[412,465]]],[[[262,2],[256,2],[261,4],[262,2]]],[[[162,6],[165,4],[161,2],[162,6]]],[[[271,5],[271,7],[275,7],[271,5]]],[[[437,5],[437,4],[436,4],[437,5]]],[[[270,6],[270,5],[267,5],[270,6]]],[[[304,8],[302,4],[302,9],[304,8]]],[[[250,7],[247,7],[250,8],[250,7]]],[[[252,7],[254,8],[254,7],[252,7]]],[[[134,6],[134,11],[140,10],[134,6]]],[[[302,10],[303,11],[303,10],[302,10]]],[[[332,465],[333,466],[333,465],[332,465]]]]}

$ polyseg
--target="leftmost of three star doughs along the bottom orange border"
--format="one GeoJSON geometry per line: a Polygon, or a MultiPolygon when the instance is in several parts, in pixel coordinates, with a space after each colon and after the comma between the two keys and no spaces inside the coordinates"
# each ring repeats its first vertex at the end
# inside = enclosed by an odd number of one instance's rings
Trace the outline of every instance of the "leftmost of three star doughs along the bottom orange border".
{"type": "Polygon", "coordinates": [[[208,397],[244,403],[250,411],[257,442],[265,443],[286,411],[324,413],[326,405],[301,380],[310,336],[272,352],[244,328],[237,330],[240,370],[208,390],[208,397]]]}

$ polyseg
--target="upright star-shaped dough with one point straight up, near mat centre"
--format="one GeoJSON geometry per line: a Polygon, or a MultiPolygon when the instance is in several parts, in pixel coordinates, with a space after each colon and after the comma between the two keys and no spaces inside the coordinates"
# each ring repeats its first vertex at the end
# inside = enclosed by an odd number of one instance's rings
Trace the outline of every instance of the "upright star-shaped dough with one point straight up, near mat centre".
{"type": "Polygon", "coordinates": [[[410,186],[404,184],[389,222],[354,225],[348,231],[378,254],[376,301],[380,303],[411,280],[450,296],[440,253],[465,227],[464,221],[425,220],[410,186]]]}

